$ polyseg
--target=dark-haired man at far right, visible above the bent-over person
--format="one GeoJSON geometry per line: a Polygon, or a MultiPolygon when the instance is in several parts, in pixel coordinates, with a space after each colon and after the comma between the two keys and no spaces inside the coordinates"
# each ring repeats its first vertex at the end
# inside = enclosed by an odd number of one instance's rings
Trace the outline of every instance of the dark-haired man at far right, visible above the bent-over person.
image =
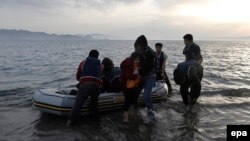
{"type": "Polygon", "coordinates": [[[203,61],[201,49],[199,45],[193,42],[193,35],[186,34],[183,36],[183,39],[185,44],[183,54],[185,55],[186,60],[196,60],[201,64],[203,61]]]}

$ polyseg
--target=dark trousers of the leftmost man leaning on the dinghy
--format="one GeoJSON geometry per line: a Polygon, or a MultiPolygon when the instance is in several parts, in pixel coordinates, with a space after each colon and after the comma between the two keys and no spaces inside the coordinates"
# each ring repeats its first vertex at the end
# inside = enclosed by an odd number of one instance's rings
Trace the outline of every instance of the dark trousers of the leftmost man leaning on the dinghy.
{"type": "Polygon", "coordinates": [[[81,108],[84,102],[87,100],[89,96],[91,98],[91,103],[90,103],[91,114],[96,114],[99,93],[100,93],[99,87],[95,83],[88,83],[88,84],[80,85],[80,88],[78,89],[78,92],[76,95],[76,101],[72,108],[69,119],[71,121],[74,121],[77,118],[77,116],[81,112],[81,108]]]}

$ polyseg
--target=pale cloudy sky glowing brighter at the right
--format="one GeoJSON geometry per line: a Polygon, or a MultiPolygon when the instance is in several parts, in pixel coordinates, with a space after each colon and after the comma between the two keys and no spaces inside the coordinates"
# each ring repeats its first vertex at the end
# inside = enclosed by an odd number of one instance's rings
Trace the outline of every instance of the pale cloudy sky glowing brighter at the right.
{"type": "Polygon", "coordinates": [[[117,39],[250,38],[249,0],[0,0],[0,28],[117,39]]]}

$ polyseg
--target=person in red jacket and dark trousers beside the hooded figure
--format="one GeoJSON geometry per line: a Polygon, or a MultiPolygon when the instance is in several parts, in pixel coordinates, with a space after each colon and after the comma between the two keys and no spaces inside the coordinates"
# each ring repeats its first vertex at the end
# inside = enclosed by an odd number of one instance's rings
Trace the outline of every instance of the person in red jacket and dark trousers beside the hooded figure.
{"type": "Polygon", "coordinates": [[[125,97],[123,106],[124,122],[128,122],[128,111],[130,105],[134,105],[135,111],[138,108],[137,86],[139,84],[140,54],[132,53],[130,57],[122,61],[121,65],[121,86],[125,97]]]}

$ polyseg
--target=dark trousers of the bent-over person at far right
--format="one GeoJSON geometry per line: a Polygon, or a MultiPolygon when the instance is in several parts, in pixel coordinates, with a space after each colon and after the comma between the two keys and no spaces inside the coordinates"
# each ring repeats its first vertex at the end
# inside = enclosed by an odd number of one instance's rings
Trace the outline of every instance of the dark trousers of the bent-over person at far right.
{"type": "Polygon", "coordinates": [[[188,72],[188,76],[186,76],[186,81],[180,86],[181,96],[183,103],[185,105],[194,104],[194,102],[189,103],[188,95],[191,100],[198,99],[201,93],[201,78],[199,78],[197,74],[197,70],[195,68],[190,68],[188,72]],[[190,92],[189,92],[190,88],[190,92]]]}

